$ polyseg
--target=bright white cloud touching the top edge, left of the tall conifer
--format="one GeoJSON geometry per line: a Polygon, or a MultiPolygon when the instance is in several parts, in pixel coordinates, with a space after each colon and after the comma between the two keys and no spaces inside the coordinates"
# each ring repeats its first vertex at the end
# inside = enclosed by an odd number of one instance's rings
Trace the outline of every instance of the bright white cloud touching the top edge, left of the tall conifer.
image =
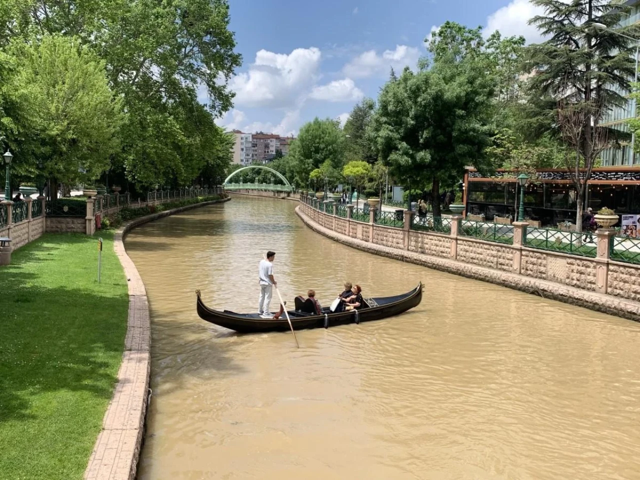
{"type": "Polygon", "coordinates": [[[498,30],[502,36],[522,35],[527,44],[541,42],[543,38],[538,29],[527,22],[543,13],[542,8],[532,5],[529,0],[513,0],[487,17],[484,33],[488,36],[498,30]]]}

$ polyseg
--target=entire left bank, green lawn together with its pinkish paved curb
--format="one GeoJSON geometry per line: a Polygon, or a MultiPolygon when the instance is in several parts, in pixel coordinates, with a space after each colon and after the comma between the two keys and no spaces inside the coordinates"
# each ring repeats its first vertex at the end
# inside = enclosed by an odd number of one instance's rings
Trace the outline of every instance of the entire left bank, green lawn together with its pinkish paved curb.
{"type": "Polygon", "coordinates": [[[125,220],[135,218],[117,231],[45,234],[0,269],[0,479],[135,476],[150,335],[144,285],[122,237],[228,198],[198,200],[126,209],[125,220]]]}

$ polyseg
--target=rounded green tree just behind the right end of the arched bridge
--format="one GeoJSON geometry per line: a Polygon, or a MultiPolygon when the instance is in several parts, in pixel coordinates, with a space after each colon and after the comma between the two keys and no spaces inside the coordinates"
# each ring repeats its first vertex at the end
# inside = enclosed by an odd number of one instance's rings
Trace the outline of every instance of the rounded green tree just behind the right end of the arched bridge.
{"type": "Polygon", "coordinates": [[[298,138],[292,141],[289,154],[295,165],[296,182],[306,184],[309,173],[325,161],[333,168],[342,168],[344,157],[344,136],[340,125],[327,118],[314,118],[300,129],[298,138]]]}

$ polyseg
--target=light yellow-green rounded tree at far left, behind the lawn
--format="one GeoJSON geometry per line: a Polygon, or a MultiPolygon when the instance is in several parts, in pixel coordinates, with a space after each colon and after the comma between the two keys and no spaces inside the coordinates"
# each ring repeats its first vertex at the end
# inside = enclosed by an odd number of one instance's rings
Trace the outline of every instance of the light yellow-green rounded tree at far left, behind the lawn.
{"type": "Polygon", "coordinates": [[[31,112],[15,130],[28,142],[6,132],[20,152],[17,168],[24,172],[44,161],[44,173],[67,186],[97,179],[120,148],[124,117],[104,62],[77,39],[59,35],[12,42],[8,52],[17,68],[5,94],[17,110],[31,112]]]}

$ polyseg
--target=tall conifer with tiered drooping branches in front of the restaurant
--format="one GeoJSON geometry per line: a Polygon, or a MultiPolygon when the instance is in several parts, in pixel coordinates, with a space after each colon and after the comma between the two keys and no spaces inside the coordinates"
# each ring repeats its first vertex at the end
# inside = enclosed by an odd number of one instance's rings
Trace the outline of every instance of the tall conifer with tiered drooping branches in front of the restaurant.
{"type": "Polygon", "coordinates": [[[637,36],[637,26],[617,29],[628,6],[605,0],[532,0],[543,8],[530,24],[549,38],[530,45],[529,68],[537,68],[529,81],[531,95],[551,99],[541,115],[556,120],[562,138],[573,147],[566,159],[577,192],[576,227],[582,228],[586,184],[603,148],[611,141],[609,129],[600,126],[614,106],[627,104],[623,92],[630,90],[634,74],[629,55],[632,40],[611,31],[597,31],[594,23],[625,35],[637,36]]]}

